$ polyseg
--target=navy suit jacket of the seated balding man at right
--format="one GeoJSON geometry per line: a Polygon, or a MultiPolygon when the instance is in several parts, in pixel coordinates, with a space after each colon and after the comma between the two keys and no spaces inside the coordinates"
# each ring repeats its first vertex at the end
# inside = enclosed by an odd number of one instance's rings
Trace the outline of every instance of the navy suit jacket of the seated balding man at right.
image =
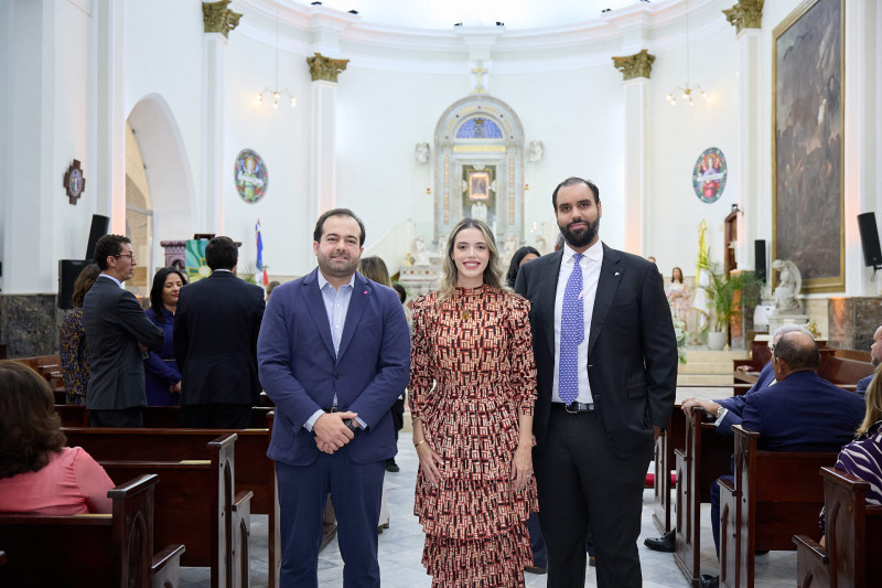
{"type": "Polygon", "coordinates": [[[863,397],[795,372],[747,396],[741,426],[756,431],[768,451],[839,451],[863,420],[863,397]]]}

